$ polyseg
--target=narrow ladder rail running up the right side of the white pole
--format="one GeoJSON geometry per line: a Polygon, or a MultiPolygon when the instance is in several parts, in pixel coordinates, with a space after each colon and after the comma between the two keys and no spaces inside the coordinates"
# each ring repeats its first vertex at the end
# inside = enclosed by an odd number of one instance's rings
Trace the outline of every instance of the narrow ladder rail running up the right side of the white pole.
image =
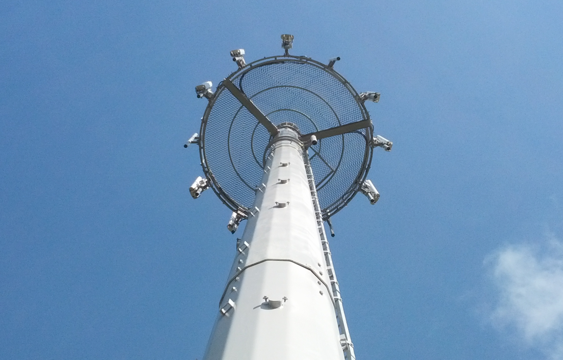
{"type": "Polygon", "coordinates": [[[348,330],[348,323],[346,322],[344,307],[342,305],[340,287],[338,286],[338,281],[336,280],[336,273],[334,272],[332,256],[330,255],[327,234],[324,231],[323,214],[321,213],[319,197],[316,192],[315,177],[313,176],[311,163],[309,162],[309,156],[307,156],[307,151],[303,152],[303,161],[305,161],[305,170],[307,172],[307,180],[309,181],[309,188],[311,190],[311,199],[315,209],[317,228],[319,230],[321,244],[323,245],[324,258],[327,262],[327,272],[330,278],[330,286],[332,287],[332,295],[334,298],[334,310],[336,311],[338,329],[340,331],[340,344],[342,346],[342,351],[344,352],[344,358],[346,360],[356,360],[356,354],[354,353],[354,344],[352,344],[352,340],[350,339],[350,331],[348,330]]]}

